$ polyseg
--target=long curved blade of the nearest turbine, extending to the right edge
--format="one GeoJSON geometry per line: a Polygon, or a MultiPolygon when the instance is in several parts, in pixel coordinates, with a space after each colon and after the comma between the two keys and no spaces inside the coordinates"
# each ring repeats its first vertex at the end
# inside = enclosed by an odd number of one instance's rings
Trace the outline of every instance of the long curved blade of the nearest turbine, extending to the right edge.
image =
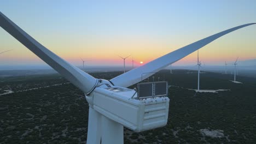
{"type": "Polygon", "coordinates": [[[254,24],[256,23],[248,23],[246,25],[237,26],[234,28],[227,29],[226,31],[211,35],[210,37],[201,39],[199,41],[196,41],[193,44],[184,46],[181,49],[168,53],[165,56],[159,57],[154,61],[151,61],[147,64],[142,65],[141,67],[132,69],[127,73],[114,77],[110,81],[115,86],[129,87],[137,82],[147,79],[147,77],[153,75],[154,73],[158,72],[161,69],[164,69],[168,65],[179,61],[179,59],[182,59],[183,57],[188,56],[190,53],[211,43],[213,40],[216,40],[217,38],[222,37],[223,35],[228,34],[237,29],[240,29],[249,25],[254,25],[254,24]]]}

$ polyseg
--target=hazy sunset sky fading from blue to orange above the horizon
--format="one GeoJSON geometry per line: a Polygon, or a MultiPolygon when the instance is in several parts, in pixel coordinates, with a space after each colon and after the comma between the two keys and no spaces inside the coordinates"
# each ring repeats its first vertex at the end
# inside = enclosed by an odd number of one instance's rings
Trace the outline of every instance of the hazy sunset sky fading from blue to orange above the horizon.
{"type": "MultiPolygon", "coordinates": [[[[185,45],[256,22],[256,1],[1,1],[0,11],[39,43],[74,65],[147,63],[185,45]]],[[[42,65],[0,28],[1,65],[42,65]]],[[[200,49],[208,65],[256,58],[256,25],[200,49]]],[[[195,65],[196,52],[174,65],[195,65]]]]}

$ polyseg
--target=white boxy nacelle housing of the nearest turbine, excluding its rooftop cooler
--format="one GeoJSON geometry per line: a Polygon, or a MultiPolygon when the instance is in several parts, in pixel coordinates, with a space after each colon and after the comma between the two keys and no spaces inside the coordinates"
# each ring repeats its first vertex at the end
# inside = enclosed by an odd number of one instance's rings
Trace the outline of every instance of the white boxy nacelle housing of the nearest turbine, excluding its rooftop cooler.
{"type": "Polygon", "coordinates": [[[95,88],[93,107],[102,115],[136,132],[164,127],[167,124],[167,97],[136,99],[133,89],[115,87],[95,88]]]}

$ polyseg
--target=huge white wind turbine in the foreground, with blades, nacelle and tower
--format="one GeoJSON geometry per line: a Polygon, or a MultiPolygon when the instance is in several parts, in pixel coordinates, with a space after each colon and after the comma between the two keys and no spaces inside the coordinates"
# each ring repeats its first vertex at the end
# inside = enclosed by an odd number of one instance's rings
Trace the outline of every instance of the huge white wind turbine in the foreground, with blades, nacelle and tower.
{"type": "Polygon", "coordinates": [[[126,87],[147,79],[225,34],[254,24],[256,23],[227,29],[167,53],[111,80],[103,80],[96,79],[55,55],[0,12],[0,26],[5,31],[84,92],[90,106],[86,141],[89,144],[124,143],[124,127],[136,132],[164,127],[168,119],[169,99],[159,97],[154,101],[151,98],[138,100],[136,92],[126,87]]]}

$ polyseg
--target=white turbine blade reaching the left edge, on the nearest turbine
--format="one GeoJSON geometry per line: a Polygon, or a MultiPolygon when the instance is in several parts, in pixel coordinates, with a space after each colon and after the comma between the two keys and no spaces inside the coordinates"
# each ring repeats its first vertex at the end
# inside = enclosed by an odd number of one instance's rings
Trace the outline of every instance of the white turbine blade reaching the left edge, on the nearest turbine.
{"type": "Polygon", "coordinates": [[[91,92],[97,85],[97,79],[46,49],[1,12],[0,26],[84,93],[91,92]]]}

